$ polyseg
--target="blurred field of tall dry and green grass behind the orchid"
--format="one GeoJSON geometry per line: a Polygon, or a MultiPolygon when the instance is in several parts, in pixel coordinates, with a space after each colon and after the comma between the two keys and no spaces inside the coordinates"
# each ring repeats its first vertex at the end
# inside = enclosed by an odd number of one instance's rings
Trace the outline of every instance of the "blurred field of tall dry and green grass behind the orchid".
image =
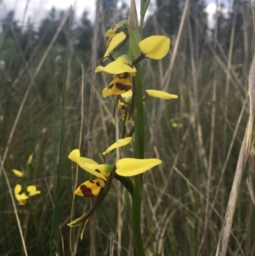
{"type": "MultiPolygon", "coordinates": [[[[186,4],[188,8],[188,1],[186,4]]],[[[247,26],[243,27],[239,37],[235,34],[237,21],[234,11],[229,40],[224,40],[220,31],[209,40],[200,26],[192,25],[192,20],[196,24],[203,22],[199,10],[191,12],[192,7],[189,7],[186,12],[183,9],[178,36],[171,38],[170,54],[160,62],[142,63],[145,88],[167,88],[169,93],[179,96],[178,101],[159,103],[149,99],[149,104],[144,105],[145,130],[150,134],[145,138],[145,156],[160,156],[163,162],[160,167],[144,174],[142,234],[146,255],[216,253],[249,113],[246,94],[254,54],[254,37],[249,24],[252,31],[255,27],[254,9],[250,7],[252,11],[243,9],[247,26]],[[241,47],[236,40],[244,41],[241,47]],[[178,127],[174,127],[173,121],[178,127]]],[[[100,24],[100,40],[103,41],[104,20],[100,24]]],[[[164,33],[155,16],[144,24],[144,33],[152,34],[152,31],[146,31],[146,26],[164,33]]],[[[23,58],[18,38],[12,45],[13,54],[10,54],[3,48],[4,43],[8,43],[4,40],[8,39],[1,35],[0,59],[5,60],[6,66],[0,71],[0,255],[38,255],[39,252],[48,255],[51,252],[54,126],[58,134],[65,71],[65,51],[58,52],[61,49],[54,43],[58,32],[55,31],[48,48],[43,49],[38,44],[29,61],[23,58]],[[57,55],[62,62],[56,60],[57,55]],[[41,82],[45,82],[43,88],[41,82]],[[57,86],[56,96],[54,86],[57,86]],[[11,170],[26,169],[31,153],[34,159],[27,182],[37,185],[42,194],[31,197],[24,207],[12,197],[14,185],[21,181],[11,170]]],[[[60,255],[70,252],[88,255],[88,228],[81,241],[82,229],[70,230],[66,225],[71,220],[76,176],[78,184],[88,179],[81,170],[76,174],[76,168],[67,156],[79,145],[83,155],[88,155],[91,85],[91,66],[84,64],[82,71],[83,60],[76,48],[72,48],[73,38],[70,40],[59,169],[59,241],[53,241],[54,246],[59,247],[60,255]],[[84,94],[81,93],[82,86],[84,94]],[[82,112],[81,105],[84,106],[82,112]]],[[[118,122],[116,125],[111,122],[112,98],[103,100],[101,97],[106,84],[107,78],[100,75],[95,87],[97,104],[94,106],[93,140],[94,160],[99,162],[103,160],[100,152],[115,141],[116,132],[122,132],[118,122]]],[[[127,129],[131,128],[132,125],[128,124],[127,129]]],[[[236,204],[228,255],[255,254],[254,146],[251,148],[236,204]]],[[[111,157],[114,160],[116,156],[109,156],[109,161],[111,157]]],[[[88,199],[75,198],[73,218],[88,208],[88,199]]],[[[114,180],[95,215],[98,255],[133,255],[131,218],[126,208],[131,208],[128,193],[114,180]]]]}

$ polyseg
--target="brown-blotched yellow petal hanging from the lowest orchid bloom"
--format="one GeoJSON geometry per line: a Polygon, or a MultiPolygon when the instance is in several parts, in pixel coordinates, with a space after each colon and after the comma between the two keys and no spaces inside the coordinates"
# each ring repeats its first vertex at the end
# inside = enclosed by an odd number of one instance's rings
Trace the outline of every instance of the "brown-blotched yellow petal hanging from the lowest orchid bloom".
{"type": "Polygon", "coordinates": [[[79,185],[75,194],[77,196],[98,196],[103,187],[105,187],[105,180],[103,179],[87,180],[79,185]]]}

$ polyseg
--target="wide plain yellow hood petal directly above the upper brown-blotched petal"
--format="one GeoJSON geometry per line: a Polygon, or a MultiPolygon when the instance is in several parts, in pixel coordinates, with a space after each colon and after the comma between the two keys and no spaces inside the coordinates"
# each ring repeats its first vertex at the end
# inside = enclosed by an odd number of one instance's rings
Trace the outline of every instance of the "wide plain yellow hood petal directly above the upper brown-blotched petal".
{"type": "Polygon", "coordinates": [[[105,71],[106,73],[109,74],[122,74],[122,73],[135,73],[136,68],[134,67],[132,60],[129,55],[123,54],[119,56],[116,60],[112,61],[108,65],[102,66],[99,65],[96,69],[95,72],[100,72],[100,71],[105,71]]]}

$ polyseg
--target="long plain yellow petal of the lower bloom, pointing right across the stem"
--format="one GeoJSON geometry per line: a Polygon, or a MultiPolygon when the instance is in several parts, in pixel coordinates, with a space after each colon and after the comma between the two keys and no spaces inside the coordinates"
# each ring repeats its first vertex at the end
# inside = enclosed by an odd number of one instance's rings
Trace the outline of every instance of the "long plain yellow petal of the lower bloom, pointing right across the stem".
{"type": "Polygon", "coordinates": [[[160,163],[161,160],[156,158],[122,158],[116,162],[116,174],[121,176],[133,176],[142,174],[160,163]]]}

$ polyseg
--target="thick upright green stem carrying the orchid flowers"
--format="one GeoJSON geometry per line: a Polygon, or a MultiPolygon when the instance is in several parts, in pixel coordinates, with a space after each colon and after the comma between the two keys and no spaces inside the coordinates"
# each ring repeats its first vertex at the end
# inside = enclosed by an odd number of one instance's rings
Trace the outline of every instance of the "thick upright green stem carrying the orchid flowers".
{"type": "MultiPolygon", "coordinates": [[[[147,2],[146,2],[147,3],[147,2]]],[[[141,6],[145,9],[145,7],[141,6]]],[[[142,21],[143,22],[143,21],[142,21]]],[[[138,16],[134,0],[131,0],[128,15],[128,33],[130,37],[129,54],[136,58],[140,54],[139,41],[141,40],[143,25],[139,28],[138,16]]],[[[133,98],[135,111],[134,116],[134,157],[144,158],[144,107],[143,107],[143,84],[140,65],[135,65],[137,73],[133,78],[133,98]]],[[[144,256],[144,243],[141,233],[141,194],[143,174],[133,177],[132,194],[132,225],[134,255],[144,256]]]]}

